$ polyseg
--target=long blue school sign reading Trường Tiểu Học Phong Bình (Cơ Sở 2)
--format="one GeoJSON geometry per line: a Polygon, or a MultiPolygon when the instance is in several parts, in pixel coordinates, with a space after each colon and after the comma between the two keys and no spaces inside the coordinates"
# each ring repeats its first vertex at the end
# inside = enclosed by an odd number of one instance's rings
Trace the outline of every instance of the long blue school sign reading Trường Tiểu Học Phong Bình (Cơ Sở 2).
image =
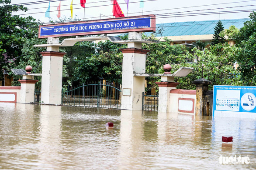
{"type": "MultiPolygon", "coordinates": [[[[154,23],[153,23],[154,24],[154,23]]],[[[88,35],[100,33],[122,33],[131,30],[152,31],[152,17],[132,17],[124,19],[98,20],[65,24],[42,25],[39,38],[88,35]]],[[[155,29],[155,28],[154,28],[155,29]]]]}

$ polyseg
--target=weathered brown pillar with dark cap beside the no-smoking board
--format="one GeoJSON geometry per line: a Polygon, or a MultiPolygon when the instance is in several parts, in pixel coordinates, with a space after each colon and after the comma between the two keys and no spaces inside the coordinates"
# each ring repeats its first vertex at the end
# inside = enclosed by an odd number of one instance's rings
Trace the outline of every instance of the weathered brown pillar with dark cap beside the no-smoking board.
{"type": "Polygon", "coordinates": [[[196,84],[196,115],[204,115],[204,91],[208,91],[211,81],[204,78],[193,81],[196,84]]]}

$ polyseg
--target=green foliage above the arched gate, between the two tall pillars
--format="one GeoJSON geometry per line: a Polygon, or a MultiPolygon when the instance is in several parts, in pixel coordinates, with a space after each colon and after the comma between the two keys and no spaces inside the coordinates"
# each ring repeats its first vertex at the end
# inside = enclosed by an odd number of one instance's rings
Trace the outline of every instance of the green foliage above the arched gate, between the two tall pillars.
{"type": "Polygon", "coordinates": [[[120,48],[127,45],[111,41],[77,42],[73,47],[65,47],[69,57],[67,79],[70,82],[90,83],[100,79],[121,83],[122,58],[120,48]]]}

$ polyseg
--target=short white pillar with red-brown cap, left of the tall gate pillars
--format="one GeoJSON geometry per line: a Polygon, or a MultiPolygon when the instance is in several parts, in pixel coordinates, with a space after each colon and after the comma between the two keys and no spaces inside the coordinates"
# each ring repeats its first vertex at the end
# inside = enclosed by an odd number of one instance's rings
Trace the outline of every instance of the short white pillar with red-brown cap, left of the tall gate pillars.
{"type": "Polygon", "coordinates": [[[18,81],[21,83],[20,102],[35,102],[35,83],[38,80],[34,80],[34,76],[22,76],[22,80],[18,81]]]}

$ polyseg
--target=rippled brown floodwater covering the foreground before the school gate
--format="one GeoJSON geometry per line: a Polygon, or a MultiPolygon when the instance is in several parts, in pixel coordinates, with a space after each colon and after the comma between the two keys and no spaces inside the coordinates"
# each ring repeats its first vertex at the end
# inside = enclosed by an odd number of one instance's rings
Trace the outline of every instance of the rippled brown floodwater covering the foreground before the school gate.
{"type": "Polygon", "coordinates": [[[254,170],[256,120],[0,103],[0,169],[254,170]],[[249,164],[219,163],[239,155],[249,164]]]}

